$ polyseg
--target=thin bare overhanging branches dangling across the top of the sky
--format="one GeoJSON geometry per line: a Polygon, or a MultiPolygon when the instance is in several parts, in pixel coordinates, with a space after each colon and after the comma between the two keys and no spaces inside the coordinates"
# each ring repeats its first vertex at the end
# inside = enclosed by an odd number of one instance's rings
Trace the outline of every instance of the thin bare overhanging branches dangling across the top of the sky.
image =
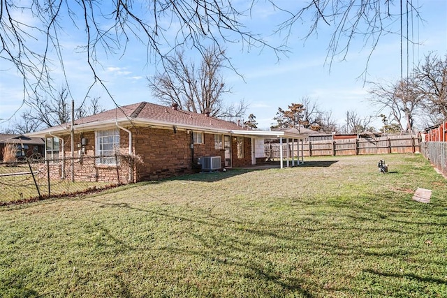
{"type": "MultiPolygon", "coordinates": [[[[251,32],[242,21],[261,2],[0,0],[0,59],[4,62],[3,69],[15,68],[22,76],[23,100],[26,100],[34,94],[38,97],[53,94],[55,68],[64,72],[63,80],[68,83],[60,40],[61,36],[78,32],[84,34],[85,41],[72,50],[85,54],[85,64],[91,70],[89,91],[95,84],[108,91],[97,72],[103,54],[122,56],[129,43],[135,41],[147,50],[147,63],[161,59],[163,67],[169,64],[165,60],[169,53],[185,45],[203,54],[211,43],[218,48],[224,43],[240,43],[244,50],[267,47],[279,55],[286,51],[288,38],[284,44],[272,45],[263,39],[263,35],[271,32],[251,32]]],[[[343,59],[351,40],[358,35],[373,51],[383,34],[395,33],[392,28],[395,21],[410,13],[396,11],[393,1],[388,0],[318,0],[302,6],[288,2],[268,0],[284,17],[277,32],[286,32],[291,37],[295,26],[309,22],[305,26],[310,38],[323,26],[333,28],[328,42],[330,61],[339,54],[343,59]]],[[[412,5],[406,8],[418,16],[418,8],[412,5]]]]}

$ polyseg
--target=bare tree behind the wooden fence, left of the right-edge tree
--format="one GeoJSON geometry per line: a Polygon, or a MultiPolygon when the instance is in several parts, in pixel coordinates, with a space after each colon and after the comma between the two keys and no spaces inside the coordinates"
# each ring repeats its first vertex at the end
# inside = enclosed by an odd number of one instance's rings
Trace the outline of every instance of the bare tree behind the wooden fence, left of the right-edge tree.
{"type": "Polygon", "coordinates": [[[387,119],[400,126],[400,131],[412,132],[414,117],[421,105],[421,96],[411,79],[396,83],[372,83],[369,101],[379,107],[377,114],[388,113],[387,119]]]}

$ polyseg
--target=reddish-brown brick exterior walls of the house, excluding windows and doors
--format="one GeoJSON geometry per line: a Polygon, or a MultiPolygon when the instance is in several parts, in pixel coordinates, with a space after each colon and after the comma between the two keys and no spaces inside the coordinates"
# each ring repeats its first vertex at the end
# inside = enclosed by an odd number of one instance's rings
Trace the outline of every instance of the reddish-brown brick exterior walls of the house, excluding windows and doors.
{"type": "MultiPolygon", "coordinates": [[[[192,132],[173,128],[133,127],[127,128],[132,134],[133,158],[129,156],[129,133],[119,129],[119,166],[96,165],[96,140],[94,131],[75,132],[74,176],[75,181],[102,181],[110,183],[128,183],[157,180],[200,171],[198,158],[203,156],[221,156],[221,165],[225,163],[225,150],[216,149],[214,134],[204,133],[203,144],[193,144],[192,132]],[[87,144],[81,146],[85,138],[87,144]]],[[[71,177],[71,136],[63,135],[59,158],[65,154],[65,161],[52,163],[52,178],[71,177]]],[[[251,165],[251,139],[244,137],[244,156],[237,158],[237,141],[231,137],[233,167],[251,165]]]]}

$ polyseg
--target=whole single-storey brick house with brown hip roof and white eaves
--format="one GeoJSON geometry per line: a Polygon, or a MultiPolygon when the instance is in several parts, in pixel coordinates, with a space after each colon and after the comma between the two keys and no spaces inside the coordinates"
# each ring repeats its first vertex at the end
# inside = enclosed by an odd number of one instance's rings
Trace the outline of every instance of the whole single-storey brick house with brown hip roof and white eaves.
{"type": "MultiPolygon", "coordinates": [[[[117,107],[78,119],[73,126],[63,124],[29,136],[45,139],[47,159],[73,154],[76,179],[115,182],[117,176],[126,177],[120,183],[197,172],[211,156],[214,170],[253,165],[261,154],[256,148],[263,147],[259,144],[265,137],[305,138],[251,131],[209,114],[147,102],[117,107]]],[[[65,170],[59,169],[58,174],[64,176],[65,170]]]]}

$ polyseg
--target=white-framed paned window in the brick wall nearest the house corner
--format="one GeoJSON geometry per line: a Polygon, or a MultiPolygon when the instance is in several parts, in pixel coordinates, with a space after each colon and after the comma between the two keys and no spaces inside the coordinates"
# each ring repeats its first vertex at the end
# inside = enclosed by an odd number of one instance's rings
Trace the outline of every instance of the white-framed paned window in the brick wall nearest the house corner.
{"type": "Polygon", "coordinates": [[[108,131],[96,132],[96,164],[117,165],[115,154],[119,152],[119,131],[109,129],[108,131]]]}

